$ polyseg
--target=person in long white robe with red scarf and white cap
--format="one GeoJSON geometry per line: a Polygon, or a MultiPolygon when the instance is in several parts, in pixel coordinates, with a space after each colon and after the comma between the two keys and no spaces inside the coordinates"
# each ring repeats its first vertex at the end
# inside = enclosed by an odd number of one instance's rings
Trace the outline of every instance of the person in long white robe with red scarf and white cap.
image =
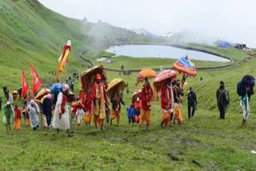
{"type": "Polygon", "coordinates": [[[59,129],[66,129],[68,137],[72,137],[73,135],[70,133],[70,114],[67,105],[69,91],[70,86],[64,84],[62,92],[58,93],[52,126],[58,130],[58,133],[59,129]]]}

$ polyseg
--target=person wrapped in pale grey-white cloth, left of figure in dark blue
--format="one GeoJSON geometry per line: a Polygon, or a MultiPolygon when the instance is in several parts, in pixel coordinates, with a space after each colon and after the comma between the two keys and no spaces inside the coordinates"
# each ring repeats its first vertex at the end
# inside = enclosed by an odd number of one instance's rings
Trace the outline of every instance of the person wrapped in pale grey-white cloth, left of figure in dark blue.
{"type": "Polygon", "coordinates": [[[34,130],[38,129],[39,118],[38,114],[40,113],[38,104],[34,100],[30,100],[30,105],[28,105],[28,113],[30,114],[30,126],[34,130]]]}

